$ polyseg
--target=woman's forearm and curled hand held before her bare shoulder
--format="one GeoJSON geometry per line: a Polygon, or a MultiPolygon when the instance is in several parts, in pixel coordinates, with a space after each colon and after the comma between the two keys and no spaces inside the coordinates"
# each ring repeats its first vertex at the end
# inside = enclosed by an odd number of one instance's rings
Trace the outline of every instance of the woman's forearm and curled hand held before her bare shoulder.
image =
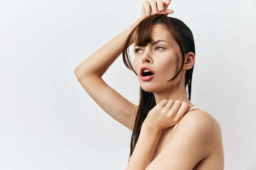
{"type": "Polygon", "coordinates": [[[146,169],[161,130],[178,123],[187,110],[188,103],[184,101],[163,100],[149,111],[126,170],[146,169]]]}

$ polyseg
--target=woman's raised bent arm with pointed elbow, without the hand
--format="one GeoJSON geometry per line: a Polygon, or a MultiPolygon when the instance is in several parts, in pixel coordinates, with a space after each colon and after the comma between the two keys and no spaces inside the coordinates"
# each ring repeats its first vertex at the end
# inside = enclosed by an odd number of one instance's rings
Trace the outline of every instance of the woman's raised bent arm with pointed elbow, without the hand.
{"type": "MultiPolygon", "coordinates": [[[[142,18],[132,26],[100,47],[75,68],[75,76],[92,99],[112,118],[132,130],[134,115],[138,106],[127,101],[102,79],[110,65],[122,53],[122,47],[129,33],[142,18]]],[[[129,44],[131,45],[131,43],[129,44]]]]}

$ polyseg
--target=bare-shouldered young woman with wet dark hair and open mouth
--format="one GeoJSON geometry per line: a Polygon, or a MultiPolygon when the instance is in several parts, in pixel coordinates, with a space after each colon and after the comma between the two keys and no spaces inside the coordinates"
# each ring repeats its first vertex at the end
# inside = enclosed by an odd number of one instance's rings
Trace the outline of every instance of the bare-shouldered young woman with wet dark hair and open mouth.
{"type": "Polygon", "coordinates": [[[193,34],[182,21],[167,17],[174,12],[170,3],[144,1],[141,17],[82,62],[75,75],[106,113],[133,131],[127,170],[224,169],[220,125],[190,102],[193,34]],[[121,53],[141,86],[139,106],[102,80],[121,53]]]}

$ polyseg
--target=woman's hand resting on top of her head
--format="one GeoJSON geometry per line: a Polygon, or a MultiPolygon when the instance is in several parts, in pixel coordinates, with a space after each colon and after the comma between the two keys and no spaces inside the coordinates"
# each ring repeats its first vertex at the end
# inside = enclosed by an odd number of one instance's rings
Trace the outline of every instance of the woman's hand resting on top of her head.
{"type": "Polygon", "coordinates": [[[141,18],[152,16],[154,14],[166,14],[174,13],[174,10],[167,9],[171,0],[145,0],[142,4],[141,18]]]}

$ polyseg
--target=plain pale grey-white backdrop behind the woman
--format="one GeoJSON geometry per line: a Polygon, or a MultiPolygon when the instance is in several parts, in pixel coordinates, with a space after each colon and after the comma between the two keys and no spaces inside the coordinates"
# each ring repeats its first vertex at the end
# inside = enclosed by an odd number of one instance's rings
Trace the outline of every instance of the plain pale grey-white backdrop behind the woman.
{"type": "MultiPolygon", "coordinates": [[[[132,132],[74,69],[137,20],[138,0],[0,1],[0,169],[125,169],[132,132]]],[[[225,169],[256,169],[255,0],[174,0],[196,42],[191,101],[220,123],[225,169]]],[[[100,61],[99,61],[100,62],[100,61]]],[[[103,79],[138,104],[120,56],[103,79]]]]}

